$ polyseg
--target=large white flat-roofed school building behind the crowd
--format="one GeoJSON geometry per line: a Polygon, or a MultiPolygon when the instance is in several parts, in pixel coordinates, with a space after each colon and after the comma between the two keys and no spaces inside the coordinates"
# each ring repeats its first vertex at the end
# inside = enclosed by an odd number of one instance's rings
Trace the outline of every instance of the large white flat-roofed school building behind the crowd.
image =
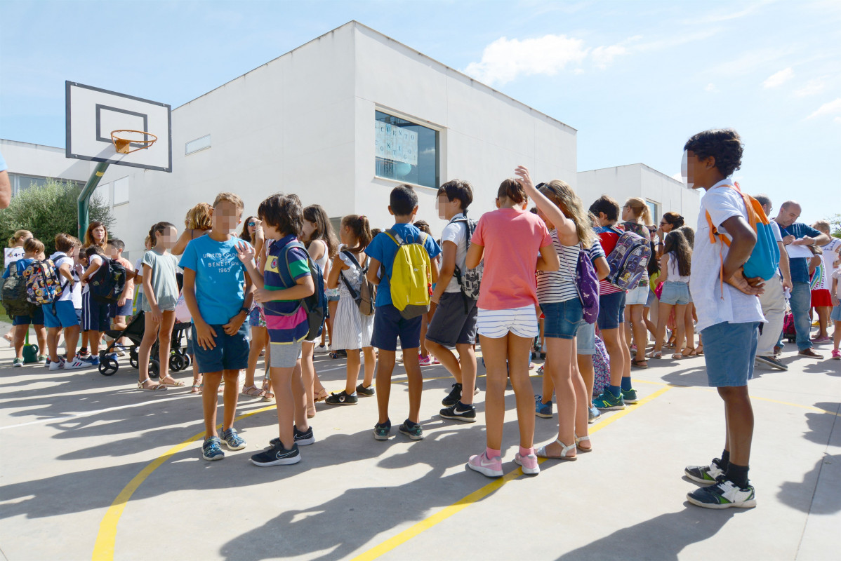
{"type": "Polygon", "coordinates": [[[697,194],[680,181],[645,165],[578,173],[574,128],[355,21],[173,109],[172,173],[111,165],[97,192],[135,259],[152,223],[180,230],[190,207],[220,191],[239,194],[246,216],[273,192],[295,192],[335,221],[365,214],[387,228],[389,191],[410,183],[417,218],[440,233],[440,184],[470,181],[478,218],[521,164],[536,181],[568,182],[588,204],[602,193],[639,196],[657,217],[695,220],[697,194]]]}

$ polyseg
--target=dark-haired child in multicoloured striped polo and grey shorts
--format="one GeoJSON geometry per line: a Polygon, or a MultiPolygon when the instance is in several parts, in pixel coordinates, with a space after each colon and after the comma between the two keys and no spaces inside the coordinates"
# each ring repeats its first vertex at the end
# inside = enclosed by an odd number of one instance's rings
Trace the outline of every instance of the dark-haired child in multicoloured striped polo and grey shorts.
{"type": "Polygon", "coordinates": [[[271,448],[251,456],[260,467],[297,464],[298,447],[315,443],[306,416],[306,395],[301,380],[301,343],[309,333],[307,311],[301,300],[315,293],[309,255],[298,235],[304,221],[297,195],[272,195],[260,203],[257,214],[267,239],[276,240],[267,251],[262,277],[254,265],[251,245],[241,242],[239,258],[257,286],[256,298],[266,314],[270,344],[272,390],[278,408],[278,438],[271,448]],[[288,247],[289,244],[294,244],[288,247]]]}

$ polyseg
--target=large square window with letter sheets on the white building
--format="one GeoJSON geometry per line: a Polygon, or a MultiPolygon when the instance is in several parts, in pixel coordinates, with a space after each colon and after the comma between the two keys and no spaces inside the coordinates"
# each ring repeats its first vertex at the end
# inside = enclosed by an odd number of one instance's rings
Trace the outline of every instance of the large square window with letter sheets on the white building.
{"type": "Polygon", "coordinates": [[[378,177],[438,188],[438,131],[381,111],[374,127],[378,177]]]}

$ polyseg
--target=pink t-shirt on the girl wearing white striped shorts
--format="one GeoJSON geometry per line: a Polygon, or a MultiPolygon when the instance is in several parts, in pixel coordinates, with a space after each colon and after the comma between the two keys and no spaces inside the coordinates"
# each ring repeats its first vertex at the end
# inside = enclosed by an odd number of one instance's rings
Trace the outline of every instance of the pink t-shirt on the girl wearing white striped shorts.
{"type": "Polygon", "coordinates": [[[552,245],[537,214],[515,208],[486,212],[471,242],[484,247],[480,308],[508,310],[537,304],[537,257],[541,248],[552,245]]]}

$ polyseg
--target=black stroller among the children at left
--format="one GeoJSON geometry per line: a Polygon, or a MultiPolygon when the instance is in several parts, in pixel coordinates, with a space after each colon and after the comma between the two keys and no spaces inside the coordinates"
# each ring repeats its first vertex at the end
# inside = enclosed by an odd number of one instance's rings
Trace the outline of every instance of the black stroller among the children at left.
{"type": "MultiPolygon", "coordinates": [[[[182,343],[185,338],[187,338],[187,330],[190,328],[190,323],[176,323],[172,327],[172,340],[170,341],[170,355],[169,355],[169,370],[172,372],[177,372],[179,370],[187,369],[190,364],[192,364],[192,360],[190,359],[190,355],[187,354],[187,349],[182,348],[182,343]]],[[[143,341],[143,333],[145,331],[145,314],[143,312],[138,313],[135,317],[131,318],[129,324],[125,327],[125,329],[109,329],[105,332],[105,334],[109,338],[113,338],[114,340],[108,345],[108,347],[99,352],[99,374],[103,376],[111,376],[117,373],[119,370],[119,363],[117,359],[114,359],[111,354],[116,351],[116,347],[119,343],[119,339],[127,338],[131,341],[131,346],[129,348],[129,362],[132,368],[138,368],[138,356],[137,356],[137,348],[140,346],[140,343],[143,341]]],[[[152,345],[150,357],[157,357],[160,348],[160,341],[155,341],[152,345]]],[[[156,379],[161,372],[161,364],[156,358],[152,358],[149,361],[149,377],[156,379]]]]}

